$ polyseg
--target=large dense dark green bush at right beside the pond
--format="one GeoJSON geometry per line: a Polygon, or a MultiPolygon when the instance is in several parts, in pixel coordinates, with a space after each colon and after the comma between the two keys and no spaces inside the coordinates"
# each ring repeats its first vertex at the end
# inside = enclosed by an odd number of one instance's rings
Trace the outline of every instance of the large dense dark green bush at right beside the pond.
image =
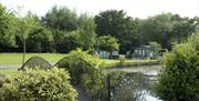
{"type": "Polygon", "coordinates": [[[199,55],[190,43],[176,44],[164,55],[164,68],[154,91],[168,101],[198,101],[199,55]]]}

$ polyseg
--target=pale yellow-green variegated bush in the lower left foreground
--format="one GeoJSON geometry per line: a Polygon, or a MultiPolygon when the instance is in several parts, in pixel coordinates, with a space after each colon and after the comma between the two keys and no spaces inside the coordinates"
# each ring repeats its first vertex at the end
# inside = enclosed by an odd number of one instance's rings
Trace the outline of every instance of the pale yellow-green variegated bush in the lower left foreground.
{"type": "Polygon", "coordinates": [[[76,101],[76,91],[63,69],[27,70],[9,75],[0,88],[0,101],[76,101]]]}

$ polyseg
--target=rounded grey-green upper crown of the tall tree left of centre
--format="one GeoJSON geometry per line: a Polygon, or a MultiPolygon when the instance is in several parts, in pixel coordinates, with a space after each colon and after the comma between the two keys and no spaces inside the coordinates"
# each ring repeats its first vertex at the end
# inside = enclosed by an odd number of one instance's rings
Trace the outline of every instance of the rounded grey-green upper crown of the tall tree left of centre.
{"type": "Polygon", "coordinates": [[[43,23],[51,28],[62,31],[77,29],[77,14],[66,7],[54,6],[43,18],[43,23]]]}

